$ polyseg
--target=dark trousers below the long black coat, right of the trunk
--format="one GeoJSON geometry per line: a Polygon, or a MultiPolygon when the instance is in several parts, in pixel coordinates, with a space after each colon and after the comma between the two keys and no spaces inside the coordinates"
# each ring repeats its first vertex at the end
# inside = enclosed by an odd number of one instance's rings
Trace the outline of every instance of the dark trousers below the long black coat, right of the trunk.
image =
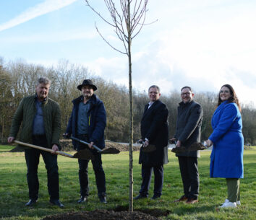
{"type": "Polygon", "coordinates": [[[151,175],[154,171],[155,181],[154,181],[154,195],[161,196],[163,189],[163,165],[148,167],[142,164],[141,175],[142,184],[140,188],[140,195],[148,196],[148,190],[150,188],[151,175]]]}

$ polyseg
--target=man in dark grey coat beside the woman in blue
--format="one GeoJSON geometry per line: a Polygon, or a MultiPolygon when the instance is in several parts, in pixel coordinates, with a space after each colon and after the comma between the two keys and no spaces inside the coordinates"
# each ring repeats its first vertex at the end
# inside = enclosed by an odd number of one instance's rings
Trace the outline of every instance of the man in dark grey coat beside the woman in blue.
{"type": "MultiPolygon", "coordinates": [[[[171,141],[176,141],[176,147],[184,146],[187,149],[192,144],[200,142],[202,107],[193,100],[194,93],[191,87],[183,87],[181,97],[182,102],[179,103],[178,107],[176,133],[171,141]]],[[[184,195],[174,202],[197,203],[199,194],[197,157],[200,157],[199,151],[177,151],[176,157],[179,158],[184,195]]]]}

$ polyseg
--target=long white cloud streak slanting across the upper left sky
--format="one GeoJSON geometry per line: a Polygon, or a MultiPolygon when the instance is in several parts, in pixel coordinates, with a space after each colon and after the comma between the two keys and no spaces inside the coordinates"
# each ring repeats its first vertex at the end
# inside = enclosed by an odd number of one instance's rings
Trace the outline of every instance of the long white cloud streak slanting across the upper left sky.
{"type": "Polygon", "coordinates": [[[34,19],[35,17],[39,17],[40,15],[47,14],[49,12],[54,12],[58,9],[63,8],[64,6],[68,6],[69,4],[74,3],[77,0],[46,0],[40,4],[37,4],[33,7],[30,7],[25,12],[22,12],[17,17],[5,22],[0,25],[0,31],[7,30],[11,27],[15,27],[24,22],[29,21],[30,19],[34,19]]]}

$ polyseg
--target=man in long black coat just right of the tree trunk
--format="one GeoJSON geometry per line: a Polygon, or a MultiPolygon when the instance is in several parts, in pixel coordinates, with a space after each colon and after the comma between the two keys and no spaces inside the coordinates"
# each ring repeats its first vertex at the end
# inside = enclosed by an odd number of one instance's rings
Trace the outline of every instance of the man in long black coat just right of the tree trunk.
{"type": "Polygon", "coordinates": [[[168,110],[166,105],[159,100],[161,96],[158,86],[148,89],[150,102],[145,105],[141,120],[140,141],[145,141],[143,147],[149,144],[155,145],[152,152],[144,152],[140,149],[139,163],[142,164],[142,184],[140,194],[135,199],[148,198],[152,171],[155,175],[154,195],[152,199],[160,198],[163,188],[163,164],[168,163],[168,110]]]}

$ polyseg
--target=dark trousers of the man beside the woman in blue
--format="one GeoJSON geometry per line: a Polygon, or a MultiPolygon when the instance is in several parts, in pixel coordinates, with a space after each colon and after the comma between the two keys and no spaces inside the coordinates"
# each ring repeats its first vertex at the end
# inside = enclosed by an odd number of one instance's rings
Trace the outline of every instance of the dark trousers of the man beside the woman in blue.
{"type": "Polygon", "coordinates": [[[199,173],[197,157],[178,157],[179,169],[182,175],[184,195],[197,199],[199,194],[199,173]]]}

